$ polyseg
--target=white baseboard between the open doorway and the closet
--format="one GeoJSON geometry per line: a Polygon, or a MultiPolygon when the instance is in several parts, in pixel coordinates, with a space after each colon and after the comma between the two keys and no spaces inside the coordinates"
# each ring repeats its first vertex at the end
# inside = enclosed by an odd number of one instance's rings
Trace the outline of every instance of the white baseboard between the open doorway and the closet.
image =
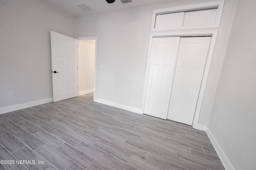
{"type": "Polygon", "coordinates": [[[119,104],[119,103],[116,103],[116,102],[110,102],[108,100],[103,100],[103,99],[99,99],[99,98],[94,98],[94,102],[98,102],[98,103],[101,103],[101,104],[106,104],[106,105],[109,105],[109,106],[117,107],[119,109],[124,109],[124,110],[128,110],[128,111],[132,111],[132,112],[135,112],[135,113],[142,114],[141,109],[131,107],[131,106],[126,106],[126,105],[119,104]]]}

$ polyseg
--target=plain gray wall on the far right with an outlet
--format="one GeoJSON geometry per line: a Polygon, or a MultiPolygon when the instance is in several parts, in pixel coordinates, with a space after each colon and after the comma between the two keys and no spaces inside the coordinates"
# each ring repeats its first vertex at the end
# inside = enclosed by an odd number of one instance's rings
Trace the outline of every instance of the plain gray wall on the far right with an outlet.
{"type": "Polygon", "coordinates": [[[208,125],[236,170],[256,170],[255,9],[255,0],[238,2],[208,125]]]}

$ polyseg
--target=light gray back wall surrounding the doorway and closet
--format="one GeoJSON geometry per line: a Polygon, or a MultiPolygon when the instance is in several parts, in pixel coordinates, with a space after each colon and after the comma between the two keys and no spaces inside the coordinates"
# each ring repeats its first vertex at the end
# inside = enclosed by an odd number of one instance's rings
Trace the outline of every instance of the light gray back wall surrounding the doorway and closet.
{"type": "MultiPolygon", "coordinates": [[[[98,37],[95,97],[142,109],[153,10],[202,2],[206,0],[180,0],[76,18],[76,37],[98,37]]],[[[237,0],[226,0],[220,28],[212,28],[218,29],[218,37],[199,119],[202,125],[210,118],[236,4],[237,0]]]]}

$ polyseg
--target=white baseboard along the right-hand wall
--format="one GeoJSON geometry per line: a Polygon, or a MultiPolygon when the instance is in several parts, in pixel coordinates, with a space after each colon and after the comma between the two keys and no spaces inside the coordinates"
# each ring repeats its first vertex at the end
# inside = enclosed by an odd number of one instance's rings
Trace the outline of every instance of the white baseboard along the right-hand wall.
{"type": "Polygon", "coordinates": [[[217,140],[215,139],[214,135],[212,134],[212,132],[210,131],[210,129],[208,127],[206,127],[206,133],[207,133],[210,141],[212,142],[212,145],[213,145],[214,149],[216,150],[224,168],[226,170],[235,170],[234,166],[228,159],[228,156],[225,154],[224,150],[222,150],[221,146],[219,145],[219,143],[217,142],[217,140]]]}

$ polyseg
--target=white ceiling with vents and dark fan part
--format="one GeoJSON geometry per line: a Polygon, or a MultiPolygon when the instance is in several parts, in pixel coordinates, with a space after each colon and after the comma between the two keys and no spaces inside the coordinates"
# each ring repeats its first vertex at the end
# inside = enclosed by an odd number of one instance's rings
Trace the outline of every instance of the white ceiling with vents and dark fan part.
{"type": "Polygon", "coordinates": [[[152,4],[160,4],[164,2],[171,2],[174,0],[132,0],[130,3],[122,4],[120,0],[116,0],[112,4],[108,4],[106,0],[47,0],[57,7],[70,13],[72,16],[79,17],[88,14],[96,14],[102,12],[110,12],[116,10],[123,10],[127,8],[135,8],[139,6],[146,6],[152,4]],[[76,6],[85,2],[90,7],[94,8],[92,12],[84,12],[82,9],[76,6]]]}

